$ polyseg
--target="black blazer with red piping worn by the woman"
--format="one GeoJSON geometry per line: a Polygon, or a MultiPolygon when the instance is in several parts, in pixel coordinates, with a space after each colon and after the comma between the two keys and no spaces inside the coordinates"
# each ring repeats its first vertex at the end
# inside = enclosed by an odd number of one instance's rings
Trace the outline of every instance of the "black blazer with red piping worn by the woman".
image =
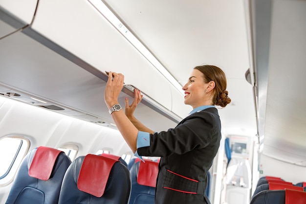
{"type": "Polygon", "coordinates": [[[218,110],[208,108],[184,118],[174,129],[150,135],[141,156],[161,157],[155,204],[209,204],[207,171],[219,149],[218,110]]]}

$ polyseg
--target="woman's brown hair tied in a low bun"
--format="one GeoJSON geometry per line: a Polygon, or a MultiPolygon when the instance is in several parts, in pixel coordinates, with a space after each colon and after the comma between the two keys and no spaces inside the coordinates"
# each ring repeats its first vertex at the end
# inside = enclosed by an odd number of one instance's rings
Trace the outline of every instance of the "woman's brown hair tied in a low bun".
{"type": "Polygon", "coordinates": [[[194,69],[197,69],[203,73],[205,83],[210,81],[215,82],[213,98],[214,105],[225,107],[231,102],[231,99],[227,96],[228,91],[226,91],[226,77],[222,69],[213,65],[197,66],[194,69]]]}

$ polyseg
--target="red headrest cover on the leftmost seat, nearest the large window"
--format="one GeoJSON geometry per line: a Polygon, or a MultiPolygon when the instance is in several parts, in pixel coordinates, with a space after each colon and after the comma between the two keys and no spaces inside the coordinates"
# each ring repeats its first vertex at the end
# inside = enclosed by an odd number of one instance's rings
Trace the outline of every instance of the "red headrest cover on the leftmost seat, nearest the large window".
{"type": "Polygon", "coordinates": [[[50,147],[38,147],[29,168],[29,175],[43,181],[50,179],[56,158],[61,152],[50,147]]]}

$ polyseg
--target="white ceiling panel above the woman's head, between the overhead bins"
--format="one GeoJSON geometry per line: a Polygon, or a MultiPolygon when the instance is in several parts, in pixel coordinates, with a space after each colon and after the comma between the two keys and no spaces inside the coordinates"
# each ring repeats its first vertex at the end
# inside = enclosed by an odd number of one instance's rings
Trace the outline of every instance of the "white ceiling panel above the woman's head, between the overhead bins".
{"type": "Polygon", "coordinates": [[[249,58],[242,0],[104,1],[177,81],[187,81],[201,64],[244,78],[249,58]]]}

